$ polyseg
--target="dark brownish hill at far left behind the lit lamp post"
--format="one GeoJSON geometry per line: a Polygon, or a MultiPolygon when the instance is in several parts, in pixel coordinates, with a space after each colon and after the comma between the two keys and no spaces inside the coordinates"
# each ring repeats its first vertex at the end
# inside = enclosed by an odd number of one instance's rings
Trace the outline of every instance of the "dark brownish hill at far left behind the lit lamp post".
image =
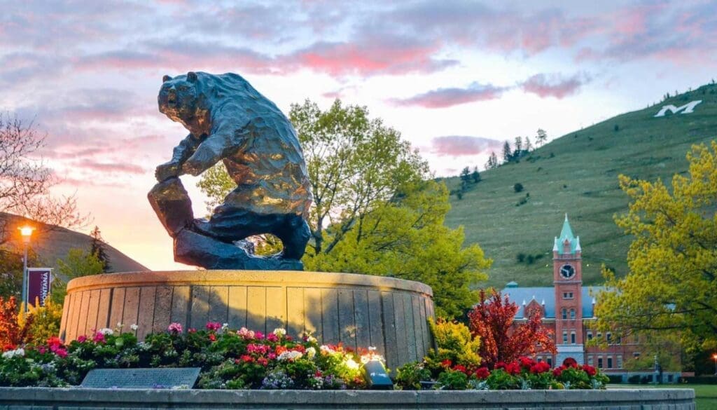
{"type": "MultiPolygon", "coordinates": [[[[17,226],[24,225],[27,220],[9,213],[0,213],[0,219],[9,219],[8,226],[13,230],[17,226]]],[[[41,224],[29,221],[29,225],[39,226],[41,224]]],[[[35,235],[32,238],[32,249],[37,252],[44,266],[57,269],[57,259],[67,256],[67,251],[71,248],[90,248],[92,238],[84,233],[75,232],[65,228],[53,228],[52,230],[42,229],[42,235],[35,235]]],[[[14,232],[14,230],[13,230],[14,232]]],[[[22,243],[11,241],[6,243],[10,248],[21,248],[22,243]]],[[[135,261],[133,258],[118,251],[112,246],[107,246],[107,256],[110,259],[110,271],[113,272],[133,272],[148,271],[145,266],[135,261]]]]}

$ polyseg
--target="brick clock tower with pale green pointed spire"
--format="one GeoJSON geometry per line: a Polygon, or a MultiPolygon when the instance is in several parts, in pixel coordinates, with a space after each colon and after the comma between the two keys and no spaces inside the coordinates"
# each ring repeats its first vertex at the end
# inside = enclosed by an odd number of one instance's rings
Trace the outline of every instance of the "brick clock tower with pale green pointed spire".
{"type": "Polygon", "coordinates": [[[582,331],[582,257],[580,237],[573,231],[565,215],[560,236],[553,246],[553,284],[555,285],[555,344],[558,350],[555,365],[566,358],[583,364],[585,349],[582,331]]]}

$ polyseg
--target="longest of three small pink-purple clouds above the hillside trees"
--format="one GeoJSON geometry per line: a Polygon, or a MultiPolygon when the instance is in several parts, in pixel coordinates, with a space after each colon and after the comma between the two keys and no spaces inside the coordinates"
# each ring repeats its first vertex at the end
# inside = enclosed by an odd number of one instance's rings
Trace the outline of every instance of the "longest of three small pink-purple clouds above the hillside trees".
{"type": "Polygon", "coordinates": [[[437,88],[409,98],[392,98],[395,106],[421,106],[424,108],[446,108],[475,101],[495,100],[508,90],[491,84],[472,83],[466,88],[437,88]]]}

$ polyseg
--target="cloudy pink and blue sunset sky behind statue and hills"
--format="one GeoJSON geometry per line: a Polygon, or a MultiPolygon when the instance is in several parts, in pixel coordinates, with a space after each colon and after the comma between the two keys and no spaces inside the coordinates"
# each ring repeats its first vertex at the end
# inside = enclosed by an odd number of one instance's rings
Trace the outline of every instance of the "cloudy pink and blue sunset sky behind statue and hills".
{"type": "MultiPolygon", "coordinates": [[[[146,193],[186,130],[163,75],[238,73],[285,113],[369,108],[438,176],[503,141],[549,139],[717,76],[715,1],[6,1],[0,111],[47,132],[42,158],[110,245],[176,264],[146,193]]],[[[183,177],[196,215],[205,198],[183,177]]]]}

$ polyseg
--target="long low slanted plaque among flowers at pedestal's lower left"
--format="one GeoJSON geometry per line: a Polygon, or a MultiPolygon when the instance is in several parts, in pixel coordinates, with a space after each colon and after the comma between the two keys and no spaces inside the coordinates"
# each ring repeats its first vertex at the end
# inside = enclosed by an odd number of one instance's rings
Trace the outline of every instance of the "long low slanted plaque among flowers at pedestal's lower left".
{"type": "Polygon", "coordinates": [[[80,387],[192,388],[201,368],[94,369],[80,387]]]}

